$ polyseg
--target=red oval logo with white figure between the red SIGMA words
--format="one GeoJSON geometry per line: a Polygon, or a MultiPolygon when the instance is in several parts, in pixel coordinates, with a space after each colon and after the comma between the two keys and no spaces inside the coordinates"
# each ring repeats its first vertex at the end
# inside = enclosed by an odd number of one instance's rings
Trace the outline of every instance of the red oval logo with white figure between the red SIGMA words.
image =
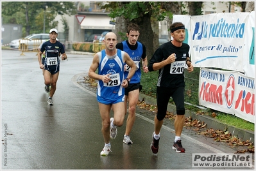
{"type": "Polygon", "coordinates": [[[226,107],[231,108],[234,102],[234,94],[235,94],[235,77],[234,75],[230,75],[228,78],[228,82],[226,83],[225,90],[225,100],[226,107]]]}

